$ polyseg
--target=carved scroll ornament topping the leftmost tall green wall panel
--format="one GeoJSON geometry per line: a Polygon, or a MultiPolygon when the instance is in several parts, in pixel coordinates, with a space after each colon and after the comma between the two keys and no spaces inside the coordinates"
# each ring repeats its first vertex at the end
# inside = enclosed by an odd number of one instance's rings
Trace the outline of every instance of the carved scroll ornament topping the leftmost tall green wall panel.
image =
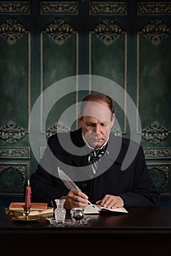
{"type": "Polygon", "coordinates": [[[14,45],[25,33],[28,32],[23,25],[13,18],[6,20],[0,26],[0,36],[6,39],[9,45],[14,45]]]}

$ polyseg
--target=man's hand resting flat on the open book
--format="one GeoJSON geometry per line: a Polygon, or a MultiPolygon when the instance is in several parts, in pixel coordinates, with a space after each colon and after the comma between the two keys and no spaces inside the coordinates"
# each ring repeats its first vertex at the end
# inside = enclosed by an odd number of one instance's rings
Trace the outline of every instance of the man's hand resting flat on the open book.
{"type": "Polygon", "coordinates": [[[97,205],[107,208],[123,207],[123,199],[117,195],[105,195],[102,200],[96,201],[97,205]]]}

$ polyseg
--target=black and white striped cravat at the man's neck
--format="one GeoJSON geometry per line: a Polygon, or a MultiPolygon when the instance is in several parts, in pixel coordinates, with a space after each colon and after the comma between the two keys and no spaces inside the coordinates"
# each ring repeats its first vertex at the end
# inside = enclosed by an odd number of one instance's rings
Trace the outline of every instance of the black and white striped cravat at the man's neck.
{"type": "Polygon", "coordinates": [[[92,171],[94,175],[96,174],[96,170],[98,168],[98,162],[101,161],[104,154],[109,154],[107,151],[107,144],[104,145],[102,148],[96,148],[88,155],[88,162],[91,164],[92,171]]]}

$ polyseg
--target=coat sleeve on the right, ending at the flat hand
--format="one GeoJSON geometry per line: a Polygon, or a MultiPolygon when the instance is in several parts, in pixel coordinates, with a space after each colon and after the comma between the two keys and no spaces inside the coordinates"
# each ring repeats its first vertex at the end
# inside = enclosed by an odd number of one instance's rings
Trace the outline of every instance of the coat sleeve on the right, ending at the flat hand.
{"type": "Polygon", "coordinates": [[[133,191],[120,195],[123,198],[124,206],[158,206],[159,191],[153,185],[141,146],[134,161],[133,191]]]}

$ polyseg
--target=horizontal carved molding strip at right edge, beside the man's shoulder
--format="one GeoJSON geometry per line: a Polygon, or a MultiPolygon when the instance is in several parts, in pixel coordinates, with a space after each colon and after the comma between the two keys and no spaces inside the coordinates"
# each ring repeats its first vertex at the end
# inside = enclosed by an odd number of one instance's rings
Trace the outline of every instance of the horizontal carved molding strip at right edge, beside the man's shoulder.
{"type": "Polygon", "coordinates": [[[171,159],[171,148],[144,148],[145,159],[171,159]]]}

